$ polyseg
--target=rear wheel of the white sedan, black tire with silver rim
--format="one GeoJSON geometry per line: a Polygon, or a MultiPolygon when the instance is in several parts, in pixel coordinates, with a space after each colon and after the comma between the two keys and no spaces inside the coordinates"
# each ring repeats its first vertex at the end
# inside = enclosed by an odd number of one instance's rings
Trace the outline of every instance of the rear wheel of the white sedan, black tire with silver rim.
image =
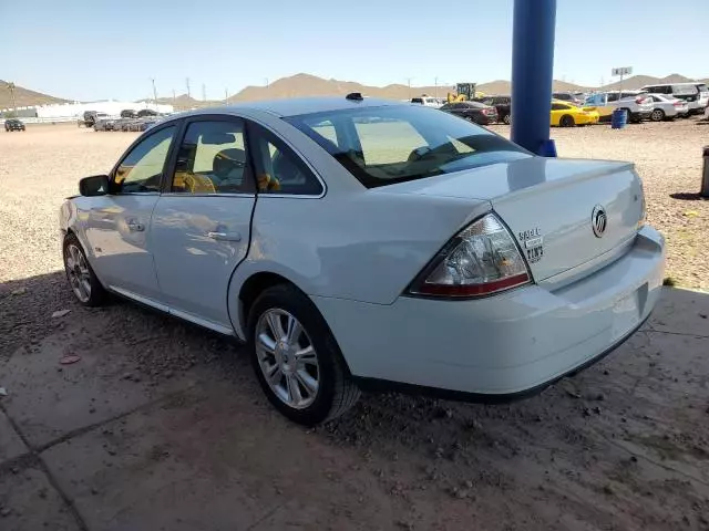
{"type": "Polygon", "coordinates": [[[339,417],[359,399],[332,332],[294,285],[264,291],[249,311],[247,329],[258,383],[290,420],[314,426],[339,417]]]}

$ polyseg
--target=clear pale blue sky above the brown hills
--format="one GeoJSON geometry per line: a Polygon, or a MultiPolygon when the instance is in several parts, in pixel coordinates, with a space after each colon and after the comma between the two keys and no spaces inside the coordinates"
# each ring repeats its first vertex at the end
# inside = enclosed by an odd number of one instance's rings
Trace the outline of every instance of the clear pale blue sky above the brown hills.
{"type": "MultiPolygon", "coordinates": [[[[511,77],[512,0],[0,0],[0,79],[76,100],[224,97],[307,72],[386,85],[511,77]]],[[[555,77],[709,76],[709,0],[558,0],[555,77]]]]}

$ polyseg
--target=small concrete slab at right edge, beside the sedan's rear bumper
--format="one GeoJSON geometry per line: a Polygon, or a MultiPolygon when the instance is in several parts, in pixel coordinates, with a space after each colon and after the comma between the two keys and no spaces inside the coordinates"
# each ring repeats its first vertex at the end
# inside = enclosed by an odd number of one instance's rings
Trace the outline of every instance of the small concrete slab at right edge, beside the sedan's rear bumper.
{"type": "Polygon", "coordinates": [[[709,293],[664,288],[648,326],[662,332],[709,337],[709,293]]]}

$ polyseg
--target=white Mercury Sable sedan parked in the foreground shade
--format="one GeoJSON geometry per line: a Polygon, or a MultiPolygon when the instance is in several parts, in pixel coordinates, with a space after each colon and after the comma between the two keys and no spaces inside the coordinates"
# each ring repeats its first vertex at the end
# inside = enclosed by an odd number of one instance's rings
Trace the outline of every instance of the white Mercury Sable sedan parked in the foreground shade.
{"type": "Polygon", "coordinates": [[[61,207],[76,299],[107,292],[249,344],[269,400],[537,391],[648,317],[662,237],[634,166],[541,158],[359,94],[175,115],[61,207]]]}

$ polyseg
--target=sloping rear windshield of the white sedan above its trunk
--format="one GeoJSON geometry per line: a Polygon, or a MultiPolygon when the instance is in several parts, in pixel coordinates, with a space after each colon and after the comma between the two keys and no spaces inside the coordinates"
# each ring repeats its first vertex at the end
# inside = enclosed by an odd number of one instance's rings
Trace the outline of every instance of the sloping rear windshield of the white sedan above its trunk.
{"type": "Polygon", "coordinates": [[[368,188],[532,156],[466,119],[418,105],[331,111],[285,119],[368,188]]]}

